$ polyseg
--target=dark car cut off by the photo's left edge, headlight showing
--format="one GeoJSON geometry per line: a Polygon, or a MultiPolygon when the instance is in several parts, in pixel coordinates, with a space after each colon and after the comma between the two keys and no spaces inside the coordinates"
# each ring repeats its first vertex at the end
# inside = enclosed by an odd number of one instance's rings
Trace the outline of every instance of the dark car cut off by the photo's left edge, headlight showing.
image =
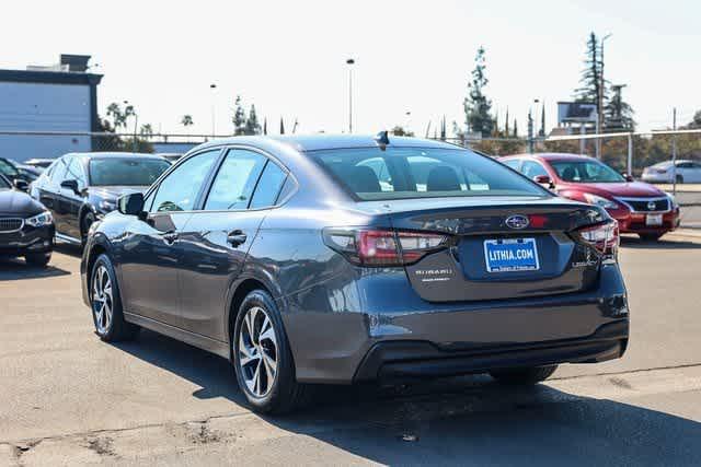
{"type": "Polygon", "coordinates": [[[23,256],[27,264],[44,267],[53,247],[51,213],[0,175],[0,256],[23,256]]]}

